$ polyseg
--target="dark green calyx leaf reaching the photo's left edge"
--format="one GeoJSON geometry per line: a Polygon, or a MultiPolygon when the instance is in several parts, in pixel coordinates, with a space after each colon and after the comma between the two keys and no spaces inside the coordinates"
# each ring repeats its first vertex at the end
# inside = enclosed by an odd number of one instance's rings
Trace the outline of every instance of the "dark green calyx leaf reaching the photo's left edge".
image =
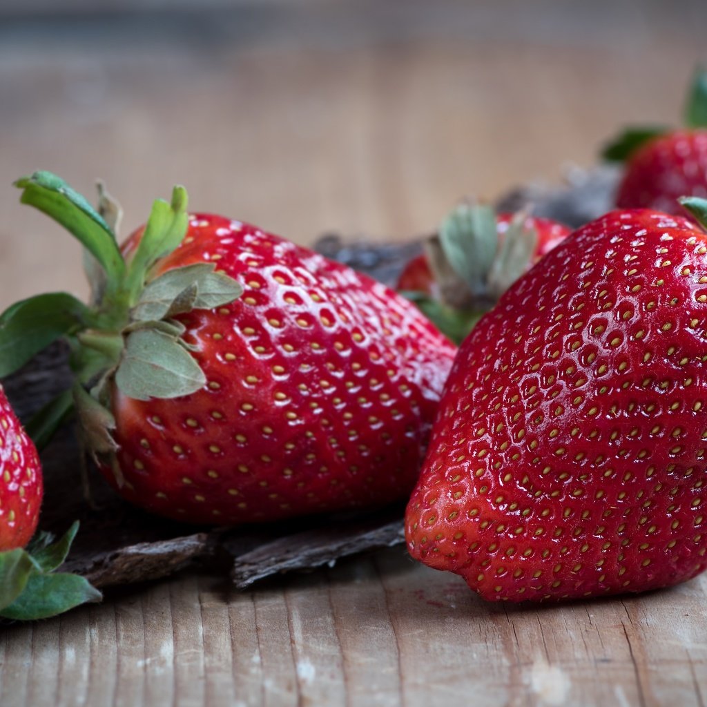
{"type": "Polygon", "coordinates": [[[0,315],[0,378],[14,373],[52,341],[86,326],[90,310],[65,292],[37,295],[0,315]]]}

